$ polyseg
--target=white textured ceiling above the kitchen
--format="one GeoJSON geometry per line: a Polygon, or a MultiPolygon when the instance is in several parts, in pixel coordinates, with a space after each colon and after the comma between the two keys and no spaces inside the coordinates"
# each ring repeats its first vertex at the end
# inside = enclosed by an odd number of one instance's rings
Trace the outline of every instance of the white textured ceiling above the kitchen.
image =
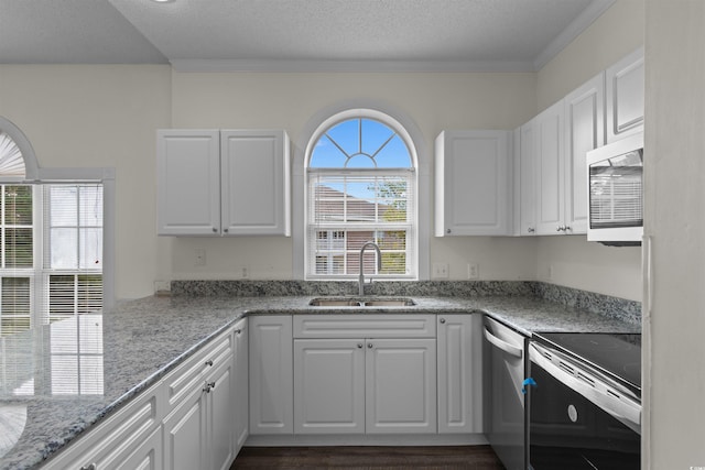
{"type": "Polygon", "coordinates": [[[614,0],[0,0],[0,63],[535,70],[614,0]]]}

